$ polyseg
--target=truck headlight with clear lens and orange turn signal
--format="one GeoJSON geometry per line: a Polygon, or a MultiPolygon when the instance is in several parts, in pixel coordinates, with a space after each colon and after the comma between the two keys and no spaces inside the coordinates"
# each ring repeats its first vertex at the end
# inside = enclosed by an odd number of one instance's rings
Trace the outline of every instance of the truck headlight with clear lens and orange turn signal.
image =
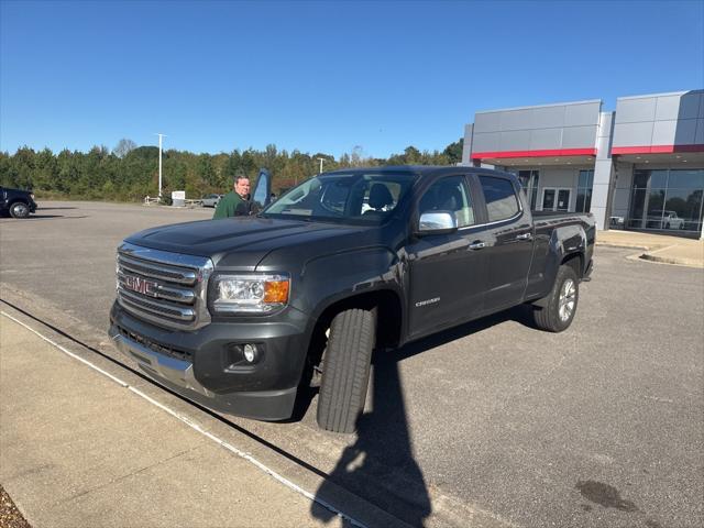
{"type": "Polygon", "coordinates": [[[212,309],[219,314],[268,314],[288,304],[288,275],[216,275],[212,283],[212,309]]]}

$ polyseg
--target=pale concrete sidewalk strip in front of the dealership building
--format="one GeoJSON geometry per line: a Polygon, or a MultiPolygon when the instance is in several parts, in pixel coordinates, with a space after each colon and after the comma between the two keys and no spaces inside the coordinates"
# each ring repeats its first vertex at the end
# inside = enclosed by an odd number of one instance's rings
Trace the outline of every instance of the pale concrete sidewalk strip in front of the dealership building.
{"type": "Polygon", "coordinates": [[[704,240],[609,230],[596,233],[596,245],[632,248],[647,261],[704,268],[704,240]]]}

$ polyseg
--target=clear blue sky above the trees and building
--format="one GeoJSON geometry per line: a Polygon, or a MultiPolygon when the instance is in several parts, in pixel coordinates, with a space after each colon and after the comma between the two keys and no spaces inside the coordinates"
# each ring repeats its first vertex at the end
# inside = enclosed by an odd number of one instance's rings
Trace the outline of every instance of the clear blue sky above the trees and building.
{"type": "Polygon", "coordinates": [[[704,88],[704,0],[0,0],[0,150],[442,150],[476,110],[704,88]]]}

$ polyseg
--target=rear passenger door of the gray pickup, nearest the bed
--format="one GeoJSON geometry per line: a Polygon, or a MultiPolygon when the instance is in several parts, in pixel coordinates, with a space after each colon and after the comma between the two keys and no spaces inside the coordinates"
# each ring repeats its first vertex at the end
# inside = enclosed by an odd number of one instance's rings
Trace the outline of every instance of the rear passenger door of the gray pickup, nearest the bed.
{"type": "Polygon", "coordinates": [[[488,274],[484,308],[497,311],[522,302],[532,258],[532,219],[509,177],[476,175],[485,207],[488,274]]]}

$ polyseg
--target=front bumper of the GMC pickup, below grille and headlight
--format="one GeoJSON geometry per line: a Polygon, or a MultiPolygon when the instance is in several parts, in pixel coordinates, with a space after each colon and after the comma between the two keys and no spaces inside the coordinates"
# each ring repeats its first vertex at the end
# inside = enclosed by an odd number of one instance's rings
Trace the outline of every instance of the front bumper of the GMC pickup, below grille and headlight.
{"type": "MultiPolygon", "coordinates": [[[[302,315],[294,314],[304,322],[302,315]]],[[[173,331],[141,321],[117,302],[109,334],[118,350],[150,377],[211,409],[261,420],[293,414],[307,339],[305,324],[213,322],[173,331]],[[255,364],[232,364],[232,346],[256,343],[255,364]]]]}

